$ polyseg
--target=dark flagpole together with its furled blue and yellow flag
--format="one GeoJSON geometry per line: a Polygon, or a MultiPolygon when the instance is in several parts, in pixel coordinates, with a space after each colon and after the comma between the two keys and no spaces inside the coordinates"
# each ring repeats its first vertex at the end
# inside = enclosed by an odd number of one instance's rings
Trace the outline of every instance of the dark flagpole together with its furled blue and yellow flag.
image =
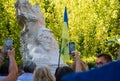
{"type": "MultiPolygon", "coordinates": [[[[67,16],[67,8],[64,9],[64,23],[62,28],[62,37],[61,37],[61,44],[60,44],[60,50],[59,50],[59,58],[58,58],[58,67],[60,67],[60,57],[61,54],[64,54],[66,56],[69,53],[69,47],[68,47],[68,16],[67,16]]],[[[64,58],[63,60],[66,61],[67,58],[64,58]]]]}

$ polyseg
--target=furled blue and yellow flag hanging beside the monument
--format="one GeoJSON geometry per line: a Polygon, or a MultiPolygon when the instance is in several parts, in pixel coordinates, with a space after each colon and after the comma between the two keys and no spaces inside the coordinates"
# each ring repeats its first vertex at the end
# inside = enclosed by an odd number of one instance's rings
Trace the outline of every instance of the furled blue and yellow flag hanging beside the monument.
{"type": "Polygon", "coordinates": [[[61,47],[60,47],[60,54],[62,54],[62,59],[64,62],[67,62],[67,60],[70,59],[68,43],[69,43],[68,15],[67,15],[67,8],[65,7],[64,23],[63,23],[61,47]]]}

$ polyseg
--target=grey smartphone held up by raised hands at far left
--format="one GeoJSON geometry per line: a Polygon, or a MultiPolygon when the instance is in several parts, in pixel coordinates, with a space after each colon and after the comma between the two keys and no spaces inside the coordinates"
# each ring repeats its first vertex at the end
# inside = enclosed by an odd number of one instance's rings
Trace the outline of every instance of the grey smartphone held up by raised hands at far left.
{"type": "Polygon", "coordinates": [[[12,38],[6,38],[4,42],[4,53],[7,53],[8,50],[11,50],[13,47],[13,39],[12,38]]]}

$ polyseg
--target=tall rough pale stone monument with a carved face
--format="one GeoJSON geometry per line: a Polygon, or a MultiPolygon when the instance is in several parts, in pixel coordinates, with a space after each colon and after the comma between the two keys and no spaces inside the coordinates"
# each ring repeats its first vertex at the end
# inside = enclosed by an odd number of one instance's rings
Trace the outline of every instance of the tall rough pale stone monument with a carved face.
{"type": "Polygon", "coordinates": [[[59,47],[53,33],[45,26],[39,5],[32,6],[28,0],[17,0],[15,8],[18,23],[22,27],[20,52],[23,63],[32,60],[37,66],[48,65],[54,73],[58,66],[59,47]]]}

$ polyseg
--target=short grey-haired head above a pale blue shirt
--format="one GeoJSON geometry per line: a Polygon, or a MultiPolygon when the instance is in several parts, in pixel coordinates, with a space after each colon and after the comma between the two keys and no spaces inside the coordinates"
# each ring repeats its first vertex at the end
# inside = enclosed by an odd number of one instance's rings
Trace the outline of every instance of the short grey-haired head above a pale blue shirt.
{"type": "Polygon", "coordinates": [[[36,64],[33,61],[26,61],[23,69],[25,73],[33,73],[36,68],[36,64]]]}

